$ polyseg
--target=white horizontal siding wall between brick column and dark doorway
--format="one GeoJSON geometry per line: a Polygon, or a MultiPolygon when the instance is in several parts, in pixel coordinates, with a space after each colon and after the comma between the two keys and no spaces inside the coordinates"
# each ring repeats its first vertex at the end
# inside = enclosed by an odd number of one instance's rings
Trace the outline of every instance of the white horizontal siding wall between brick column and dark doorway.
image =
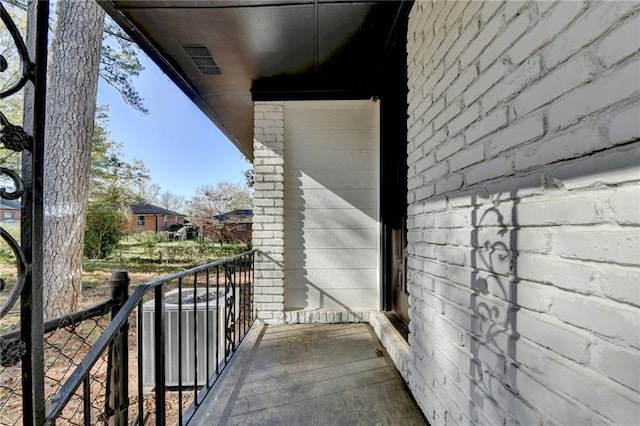
{"type": "Polygon", "coordinates": [[[377,310],[379,112],[285,102],[285,309],[377,310]]]}

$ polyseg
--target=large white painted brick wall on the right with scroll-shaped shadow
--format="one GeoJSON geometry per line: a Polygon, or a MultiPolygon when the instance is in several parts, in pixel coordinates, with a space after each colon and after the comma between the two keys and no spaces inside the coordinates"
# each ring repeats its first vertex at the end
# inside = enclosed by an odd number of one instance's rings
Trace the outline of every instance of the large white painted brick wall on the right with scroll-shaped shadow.
{"type": "Polygon", "coordinates": [[[409,368],[434,425],[640,419],[640,3],[417,1],[409,368]]]}

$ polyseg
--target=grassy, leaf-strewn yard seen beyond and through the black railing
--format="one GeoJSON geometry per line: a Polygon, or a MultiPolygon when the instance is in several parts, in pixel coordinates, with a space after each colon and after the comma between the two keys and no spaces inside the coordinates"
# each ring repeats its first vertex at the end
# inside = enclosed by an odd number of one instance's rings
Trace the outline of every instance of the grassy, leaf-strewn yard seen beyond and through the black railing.
{"type": "MultiPolygon", "coordinates": [[[[12,232],[14,235],[14,232],[12,232]]],[[[171,242],[157,242],[152,240],[145,240],[144,238],[125,237],[121,241],[120,247],[109,259],[84,259],[83,262],[83,277],[82,277],[82,307],[88,307],[101,302],[106,301],[109,298],[109,278],[111,273],[116,269],[125,269],[129,272],[131,279],[130,293],[133,292],[136,286],[143,284],[154,278],[166,276],[174,272],[184,270],[196,265],[207,263],[217,260],[222,257],[227,257],[236,253],[241,253],[247,250],[245,245],[239,244],[213,244],[207,241],[171,241],[171,242]]],[[[0,292],[0,305],[4,303],[8,294],[14,285],[16,278],[15,257],[11,253],[9,247],[0,242],[0,277],[2,277],[7,285],[6,288],[0,292]]],[[[165,289],[171,288],[173,283],[168,284],[165,289]]],[[[153,297],[152,294],[149,297],[153,297]]],[[[14,306],[12,312],[0,321],[0,333],[7,331],[10,327],[17,325],[19,322],[19,308],[14,306]]],[[[46,337],[48,342],[45,345],[45,358],[46,358],[46,388],[47,392],[57,392],[57,387],[53,386],[55,383],[60,383],[64,380],[64,377],[72,371],[73,365],[77,365],[77,362],[81,360],[88,351],[90,345],[95,342],[101,333],[102,327],[108,323],[108,315],[99,319],[101,327],[96,327],[96,322],[87,321],[80,326],[68,330],[63,328],[49,334],[46,337]],[[94,328],[95,327],[95,328],[94,328]],[[95,332],[94,332],[95,330],[95,332]],[[75,340],[72,336],[76,336],[75,340]],[[78,340],[80,343],[78,343],[78,340]],[[74,346],[76,345],[76,346],[74,346]],[[61,356],[60,353],[64,353],[61,356]],[[71,359],[74,359],[71,362],[71,359]],[[53,387],[52,387],[53,386],[53,387]]],[[[137,334],[135,328],[137,324],[135,319],[130,322],[129,331],[129,383],[130,383],[130,395],[136,392],[136,374],[137,374],[137,334]]],[[[97,369],[94,367],[92,370],[92,387],[96,386],[96,389],[91,391],[92,395],[99,395],[102,390],[100,389],[100,381],[108,374],[106,364],[96,364],[97,369]]],[[[14,370],[2,370],[3,377],[19,377],[19,368],[15,367],[14,370]]],[[[6,391],[3,390],[3,392],[6,391]]],[[[5,414],[10,413],[10,418],[20,418],[21,404],[18,397],[15,398],[18,401],[13,406],[5,407],[5,414]],[[15,416],[14,416],[15,414],[15,416]]],[[[101,396],[98,396],[100,399],[101,396]]],[[[145,402],[145,406],[151,406],[151,397],[148,402],[145,402]]],[[[0,400],[6,401],[7,396],[0,395],[0,400]]],[[[12,397],[12,401],[14,398],[12,397]]],[[[1,401],[0,401],[1,402],[1,401]]],[[[175,395],[167,396],[167,422],[175,423],[178,417],[178,409],[180,408],[177,403],[175,395]]],[[[183,405],[190,405],[190,400],[186,398],[183,401],[183,405]]],[[[183,407],[183,410],[186,408],[183,407]]],[[[133,411],[131,411],[133,413],[133,411]]],[[[150,418],[153,421],[153,415],[150,418]]]]}

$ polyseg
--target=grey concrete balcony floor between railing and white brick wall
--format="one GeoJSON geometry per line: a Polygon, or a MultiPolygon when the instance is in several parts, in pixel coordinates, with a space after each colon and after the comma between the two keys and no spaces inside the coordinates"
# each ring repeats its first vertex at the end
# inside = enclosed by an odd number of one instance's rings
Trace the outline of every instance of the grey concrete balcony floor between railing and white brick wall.
{"type": "Polygon", "coordinates": [[[190,424],[427,421],[368,324],[255,324],[190,424]]]}

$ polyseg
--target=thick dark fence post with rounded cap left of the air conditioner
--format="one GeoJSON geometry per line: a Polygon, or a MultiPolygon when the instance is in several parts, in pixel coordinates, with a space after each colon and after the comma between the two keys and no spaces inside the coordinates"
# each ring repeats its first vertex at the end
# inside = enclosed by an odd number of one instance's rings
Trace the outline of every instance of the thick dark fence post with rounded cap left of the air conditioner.
{"type": "MultiPolygon", "coordinates": [[[[111,274],[109,285],[111,300],[111,320],[129,297],[129,273],[116,270],[111,274]]],[[[109,374],[107,378],[107,400],[105,417],[110,426],[123,426],[128,423],[129,411],[129,321],[125,322],[116,335],[109,351],[109,374]]]]}

